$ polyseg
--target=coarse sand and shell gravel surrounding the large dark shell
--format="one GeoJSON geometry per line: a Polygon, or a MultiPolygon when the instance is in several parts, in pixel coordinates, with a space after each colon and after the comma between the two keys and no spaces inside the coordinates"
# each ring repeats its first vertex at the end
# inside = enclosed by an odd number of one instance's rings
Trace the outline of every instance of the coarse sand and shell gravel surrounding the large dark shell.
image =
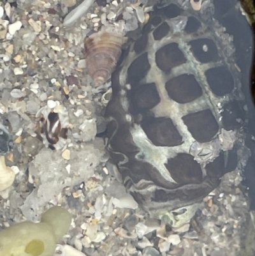
{"type": "MultiPolygon", "coordinates": [[[[9,2],[0,3],[0,114],[16,142],[6,164],[17,166],[18,173],[10,190],[1,192],[0,227],[38,221],[45,209],[60,205],[73,222],[59,250],[68,244],[87,256],[237,256],[248,213],[238,170],[222,178],[191,224],[172,230],[136,208],[113,177],[104,140],[96,137],[105,129],[110,82],[94,87],[87,75],[84,38],[121,13],[125,31],[135,30],[135,1],[103,7],[98,0],[69,27],[62,22],[76,0],[9,2]],[[36,116],[47,105],[69,116],[67,143],[55,151],[43,144],[41,116],[36,116]]],[[[150,10],[148,4],[143,11],[150,10]]]]}

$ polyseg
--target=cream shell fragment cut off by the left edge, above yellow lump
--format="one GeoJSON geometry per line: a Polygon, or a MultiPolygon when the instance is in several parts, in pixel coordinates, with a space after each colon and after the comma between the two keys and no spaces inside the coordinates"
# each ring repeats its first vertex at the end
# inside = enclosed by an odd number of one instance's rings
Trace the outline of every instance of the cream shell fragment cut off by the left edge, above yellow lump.
{"type": "Polygon", "coordinates": [[[0,156],[0,192],[10,188],[15,179],[15,172],[5,165],[4,156],[0,156]]]}

